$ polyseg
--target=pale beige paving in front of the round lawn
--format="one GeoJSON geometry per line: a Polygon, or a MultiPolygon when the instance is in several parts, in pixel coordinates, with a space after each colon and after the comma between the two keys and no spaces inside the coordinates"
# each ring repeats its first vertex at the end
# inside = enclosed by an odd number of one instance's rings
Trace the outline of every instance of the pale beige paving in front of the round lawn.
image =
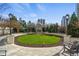
{"type": "Polygon", "coordinates": [[[7,45],[7,56],[52,56],[57,54],[63,47],[46,47],[46,48],[33,48],[23,47],[15,44],[7,45]]]}

